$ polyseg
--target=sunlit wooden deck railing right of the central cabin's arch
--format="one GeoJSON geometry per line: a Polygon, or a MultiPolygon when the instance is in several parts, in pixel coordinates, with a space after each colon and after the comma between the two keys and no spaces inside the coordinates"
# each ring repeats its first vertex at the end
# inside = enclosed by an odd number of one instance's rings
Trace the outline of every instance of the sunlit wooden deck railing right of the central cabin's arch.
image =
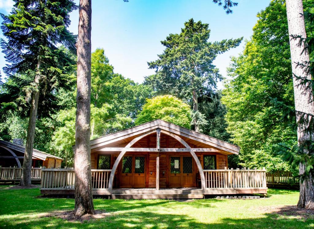
{"type": "Polygon", "coordinates": [[[266,188],[266,170],[204,170],[206,188],[266,188]]]}

